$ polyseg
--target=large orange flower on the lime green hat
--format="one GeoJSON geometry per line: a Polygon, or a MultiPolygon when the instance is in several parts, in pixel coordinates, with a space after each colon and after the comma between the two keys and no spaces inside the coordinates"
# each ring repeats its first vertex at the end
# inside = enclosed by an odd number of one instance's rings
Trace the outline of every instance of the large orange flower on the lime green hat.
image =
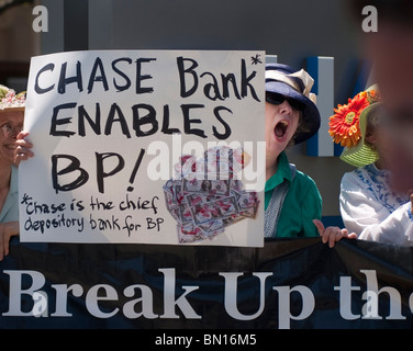
{"type": "Polygon", "coordinates": [[[362,91],[353,99],[348,99],[348,104],[334,109],[335,114],[330,117],[328,122],[328,134],[333,137],[334,143],[345,147],[358,144],[361,137],[359,116],[369,104],[368,94],[362,91]]]}

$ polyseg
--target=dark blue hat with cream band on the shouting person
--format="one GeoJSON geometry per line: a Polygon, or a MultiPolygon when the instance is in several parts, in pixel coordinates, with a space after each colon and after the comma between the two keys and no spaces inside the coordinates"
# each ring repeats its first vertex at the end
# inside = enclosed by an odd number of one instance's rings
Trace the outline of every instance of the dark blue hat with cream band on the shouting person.
{"type": "Polygon", "coordinates": [[[302,111],[302,132],[295,133],[294,143],[311,138],[320,128],[320,112],[315,105],[315,94],[311,91],[314,79],[303,69],[297,71],[287,65],[266,65],[266,91],[292,98],[304,104],[302,111]]]}

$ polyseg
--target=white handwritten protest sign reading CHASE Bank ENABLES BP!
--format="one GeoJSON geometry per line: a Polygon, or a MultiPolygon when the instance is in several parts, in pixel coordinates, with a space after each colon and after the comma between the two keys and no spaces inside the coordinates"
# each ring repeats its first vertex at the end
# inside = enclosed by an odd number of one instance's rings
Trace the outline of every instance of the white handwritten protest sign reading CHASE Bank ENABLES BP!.
{"type": "Polygon", "coordinates": [[[264,63],[224,50],[33,57],[21,240],[263,246],[264,63]]]}

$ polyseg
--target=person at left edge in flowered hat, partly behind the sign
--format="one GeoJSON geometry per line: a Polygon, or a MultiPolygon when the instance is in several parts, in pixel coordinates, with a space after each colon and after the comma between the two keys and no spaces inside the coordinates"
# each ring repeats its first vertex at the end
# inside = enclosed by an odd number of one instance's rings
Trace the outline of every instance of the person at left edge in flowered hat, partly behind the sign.
{"type": "Polygon", "coordinates": [[[0,261],[9,253],[12,236],[19,235],[16,135],[23,128],[25,95],[0,84],[0,261]]]}

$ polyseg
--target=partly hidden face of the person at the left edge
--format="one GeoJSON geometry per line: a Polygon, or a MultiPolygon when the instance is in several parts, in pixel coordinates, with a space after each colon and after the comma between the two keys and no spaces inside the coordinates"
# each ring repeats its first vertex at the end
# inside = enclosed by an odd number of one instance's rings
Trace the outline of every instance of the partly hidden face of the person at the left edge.
{"type": "Polygon", "coordinates": [[[15,137],[23,128],[24,113],[21,111],[0,113],[0,160],[13,163],[15,137]]]}

